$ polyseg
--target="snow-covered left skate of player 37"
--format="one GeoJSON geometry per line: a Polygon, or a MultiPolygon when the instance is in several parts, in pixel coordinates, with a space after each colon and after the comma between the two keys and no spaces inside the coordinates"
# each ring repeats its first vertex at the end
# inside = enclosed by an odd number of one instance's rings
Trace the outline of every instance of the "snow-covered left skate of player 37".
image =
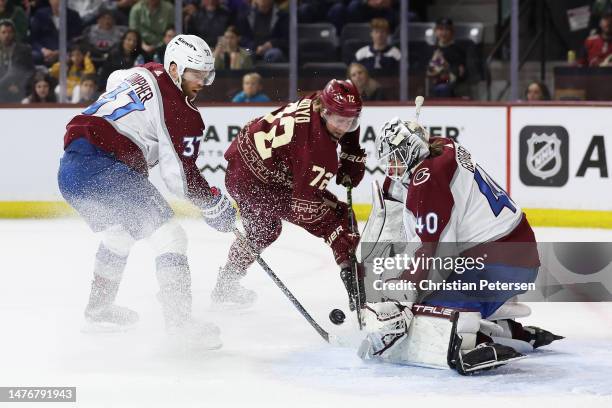
{"type": "Polygon", "coordinates": [[[85,308],[84,332],[123,331],[138,322],[138,313],[113,302],[119,290],[119,282],[95,276],[91,284],[89,303],[85,308]]]}

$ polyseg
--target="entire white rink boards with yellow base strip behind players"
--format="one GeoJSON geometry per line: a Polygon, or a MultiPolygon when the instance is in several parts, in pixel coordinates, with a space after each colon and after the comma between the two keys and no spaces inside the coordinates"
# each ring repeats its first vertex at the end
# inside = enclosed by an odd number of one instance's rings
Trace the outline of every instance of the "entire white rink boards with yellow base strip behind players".
{"type": "MultiPolygon", "coordinates": [[[[199,164],[206,166],[203,174],[212,185],[223,186],[223,152],[241,126],[274,106],[200,107],[207,133],[199,164]]],[[[81,110],[68,105],[0,108],[0,218],[67,213],[56,174],[65,125],[81,110]]],[[[410,119],[414,108],[393,104],[364,108],[361,141],[369,155],[368,172],[353,197],[360,218],[369,211],[371,181],[382,180],[374,138],[380,125],[394,116],[410,119]]],[[[457,137],[525,208],[533,224],[612,227],[607,163],[612,104],[448,105],[426,101],[420,120],[432,135],[457,137]]],[[[166,191],[155,169],[151,178],[166,191]]],[[[333,182],[330,186],[344,198],[342,189],[333,182]]]]}

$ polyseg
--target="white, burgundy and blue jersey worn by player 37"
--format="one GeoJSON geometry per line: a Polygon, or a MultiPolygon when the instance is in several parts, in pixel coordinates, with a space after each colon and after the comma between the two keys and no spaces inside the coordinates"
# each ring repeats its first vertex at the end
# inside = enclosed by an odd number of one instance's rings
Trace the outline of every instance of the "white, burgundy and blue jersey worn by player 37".
{"type": "Polygon", "coordinates": [[[204,122],[161,64],[113,72],[106,93],[66,129],[65,147],[84,137],[142,173],[159,164],[168,189],[179,197],[196,205],[210,197],[196,166],[204,122]]]}

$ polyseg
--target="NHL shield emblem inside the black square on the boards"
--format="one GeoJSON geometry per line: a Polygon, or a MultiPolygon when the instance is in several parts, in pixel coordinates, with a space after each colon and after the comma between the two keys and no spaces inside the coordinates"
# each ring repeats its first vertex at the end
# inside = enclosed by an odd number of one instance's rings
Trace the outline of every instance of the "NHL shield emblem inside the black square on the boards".
{"type": "Polygon", "coordinates": [[[533,133],[527,140],[527,168],[536,177],[546,180],[561,170],[561,140],[556,133],[533,133]]]}

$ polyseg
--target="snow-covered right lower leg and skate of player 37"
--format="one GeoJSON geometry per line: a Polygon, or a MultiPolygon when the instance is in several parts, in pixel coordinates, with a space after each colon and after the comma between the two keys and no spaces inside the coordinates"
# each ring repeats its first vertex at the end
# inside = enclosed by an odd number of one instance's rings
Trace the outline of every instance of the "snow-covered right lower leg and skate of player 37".
{"type": "Polygon", "coordinates": [[[186,257],[177,254],[162,257],[166,259],[158,259],[160,291],[157,298],[171,346],[184,350],[221,348],[219,328],[212,323],[195,321],[192,317],[191,274],[186,257]]]}

